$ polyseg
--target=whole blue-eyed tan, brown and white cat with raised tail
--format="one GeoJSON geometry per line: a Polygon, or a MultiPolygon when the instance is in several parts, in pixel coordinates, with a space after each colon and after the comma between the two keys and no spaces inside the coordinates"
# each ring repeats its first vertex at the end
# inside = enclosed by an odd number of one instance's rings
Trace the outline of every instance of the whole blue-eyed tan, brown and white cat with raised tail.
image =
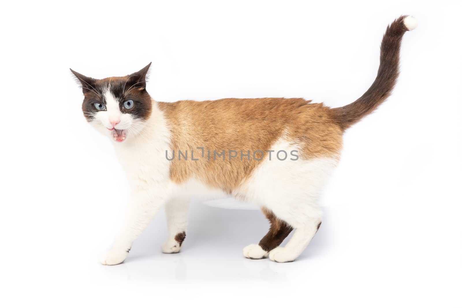
{"type": "Polygon", "coordinates": [[[225,196],[260,205],[269,220],[261,241],[243,248],[246,258],[295,260],[321,225],[317,199],[340,160],[343,133],[389,97],[402,36],[415,26],[415,18],[401,16],[387,27],[377,78],[362,97],[333,109],[303,98],[162,103],[146,91],[151,63],[105,79],[71,69],[82,86],[83,114],[114,140],[133,194],[126,224],[101,263],[122,263],[163,205],[168,238],[162,252],[179,253],[189,199],[225,196]]]}

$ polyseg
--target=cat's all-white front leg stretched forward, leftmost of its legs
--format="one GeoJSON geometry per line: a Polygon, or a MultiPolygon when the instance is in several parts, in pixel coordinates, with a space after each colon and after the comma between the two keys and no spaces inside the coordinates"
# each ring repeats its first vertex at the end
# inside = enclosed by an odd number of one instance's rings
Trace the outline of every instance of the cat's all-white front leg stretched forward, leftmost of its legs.
{"type": "Polygon", "coordinates": [[[136,189],[133,194],[127,221],[114,246],[101,258],[103,265],[120,264],[127,258],[134,240],[146,229],[166,199],[158,189],[136,189]]]}

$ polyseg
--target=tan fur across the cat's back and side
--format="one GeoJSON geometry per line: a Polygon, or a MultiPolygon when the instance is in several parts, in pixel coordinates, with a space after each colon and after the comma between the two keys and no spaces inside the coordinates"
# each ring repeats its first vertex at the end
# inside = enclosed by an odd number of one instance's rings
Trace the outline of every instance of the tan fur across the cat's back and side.
{"type": "Polygon", "coordinates": [[[232,193],[263,161],[252,157],[254,151],[263,151],[266,157],[266,151],[283,136],[298,145],[301,159],[340,155],[343,131],[332,120],[329,108],[303,98],[180,101],[159,103],[159,108],[171,129],[171,149],[194,150],[195,158],[202,154],[196,147],[211,151],[210,160],[199,157],[195,162],[178,160],[176,154],[170,178],[178,184],[194,177],[232,193]],[[225,161],[221,157],[214,160],[213,151],[223,150],[225,161]],[[241,160],[239,152],[230,160],[229,150],[250,151],[251,159],[241,160]]]}

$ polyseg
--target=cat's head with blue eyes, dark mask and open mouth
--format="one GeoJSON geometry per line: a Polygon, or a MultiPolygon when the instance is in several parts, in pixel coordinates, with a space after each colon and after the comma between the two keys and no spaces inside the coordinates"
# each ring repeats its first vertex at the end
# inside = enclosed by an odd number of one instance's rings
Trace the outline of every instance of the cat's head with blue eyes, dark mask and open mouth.
{"type": "Polygon", "coordinates": [[[86,77],[71,69],[82,85],[86,120],[117,142],[140,133],[152,111],[151,97],[146,91],[150,65],[125,77],[105,79],[86,77]]]}

